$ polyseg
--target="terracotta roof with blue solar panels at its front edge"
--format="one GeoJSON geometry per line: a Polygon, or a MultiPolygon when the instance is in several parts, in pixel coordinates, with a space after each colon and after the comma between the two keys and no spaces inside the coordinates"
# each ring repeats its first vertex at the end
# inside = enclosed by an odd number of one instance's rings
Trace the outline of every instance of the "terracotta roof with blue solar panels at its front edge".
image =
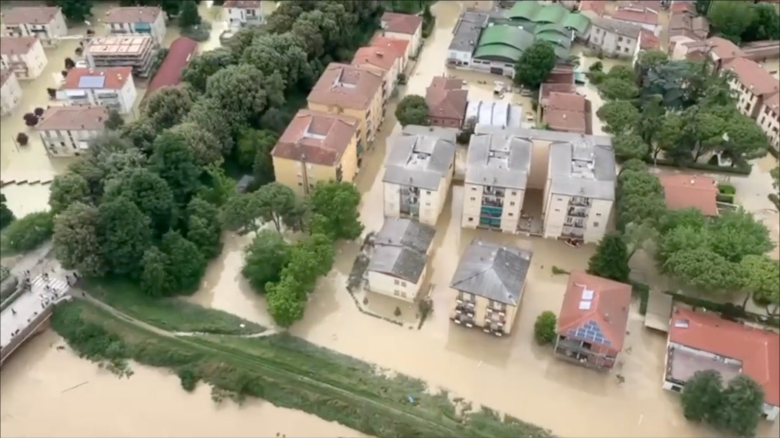
{"type": "Polygon", "coordinates": [[[626,337],[630,304],[629,284],[574,271],[569,275],[569,285],[563,296],[558,316],[558,334],[600,344],[610,351],[619,352],[623,349],[626,337]],[[586,304],[587,301],[590,303],[586,304]],[[601,331],[603,342],[576,334],[578,329],[594,325],[601,331]]]}

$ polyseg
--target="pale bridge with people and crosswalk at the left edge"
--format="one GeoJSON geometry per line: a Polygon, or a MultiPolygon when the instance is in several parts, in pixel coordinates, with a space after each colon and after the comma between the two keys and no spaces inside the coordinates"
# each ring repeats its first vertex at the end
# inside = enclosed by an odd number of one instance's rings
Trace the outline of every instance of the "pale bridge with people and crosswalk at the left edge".
{"type": "Polygon", "coordinates": [[[0,366],[30,337],[48,328],[55,304],[68,300],[70,285],[62,274],[39,274],[20,288],[0,312],[0,366]]]}

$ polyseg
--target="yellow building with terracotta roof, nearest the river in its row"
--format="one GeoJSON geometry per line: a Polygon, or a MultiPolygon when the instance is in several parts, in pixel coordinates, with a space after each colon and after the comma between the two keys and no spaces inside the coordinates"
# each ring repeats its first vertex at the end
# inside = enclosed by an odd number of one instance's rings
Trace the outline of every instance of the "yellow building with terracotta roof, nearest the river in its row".
{"type": "Polygon", "coordinates": [[[300,110],[271,151],[276,181],[299,195],[317,181],[349,181],[357,173],[360,121],[346,115],[300,110]]]}

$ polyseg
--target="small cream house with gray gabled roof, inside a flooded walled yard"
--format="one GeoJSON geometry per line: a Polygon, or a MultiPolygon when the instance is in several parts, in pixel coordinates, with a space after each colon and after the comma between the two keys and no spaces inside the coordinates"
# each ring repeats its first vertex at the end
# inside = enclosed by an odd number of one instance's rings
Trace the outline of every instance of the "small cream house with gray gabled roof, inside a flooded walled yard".
{"type": "Polygon", "coordinates": [[[370,240],[366,289],[414,302],[423,286],[436,228],[402,217],[385,217],[370,240]]]}

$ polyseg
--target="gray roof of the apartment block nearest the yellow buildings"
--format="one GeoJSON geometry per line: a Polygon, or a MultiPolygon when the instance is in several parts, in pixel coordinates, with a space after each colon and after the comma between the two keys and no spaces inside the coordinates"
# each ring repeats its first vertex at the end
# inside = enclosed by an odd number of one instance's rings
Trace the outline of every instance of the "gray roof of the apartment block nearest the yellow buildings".
{"type": "Polygon", "coordinates": [[[455,161],[455,142],[437,136],[392,136],[388,150],[382,181],[426,190],[438,190],[455,161]]]}

